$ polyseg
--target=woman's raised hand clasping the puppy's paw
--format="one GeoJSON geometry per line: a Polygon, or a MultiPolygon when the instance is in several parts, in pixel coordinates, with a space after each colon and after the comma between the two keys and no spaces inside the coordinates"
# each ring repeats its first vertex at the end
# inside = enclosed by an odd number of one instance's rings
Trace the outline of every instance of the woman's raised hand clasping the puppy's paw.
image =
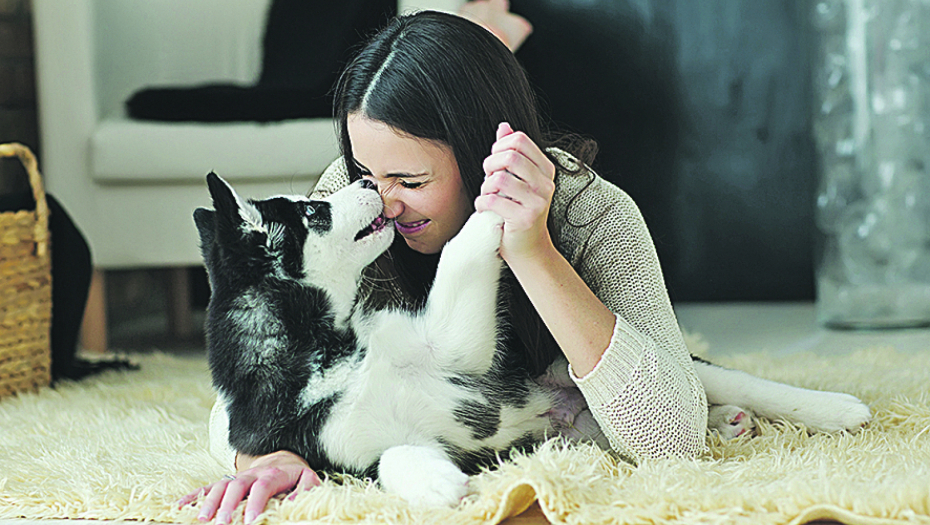
{"type": "Polygon", "coordinates": [[[555,165],[539,146],[502,122],[491,155],[484,160],[484,173],[475,209],[503,217],[501,257],[512,265],[554,249],[546,221],[555,192],[555,165]]]}

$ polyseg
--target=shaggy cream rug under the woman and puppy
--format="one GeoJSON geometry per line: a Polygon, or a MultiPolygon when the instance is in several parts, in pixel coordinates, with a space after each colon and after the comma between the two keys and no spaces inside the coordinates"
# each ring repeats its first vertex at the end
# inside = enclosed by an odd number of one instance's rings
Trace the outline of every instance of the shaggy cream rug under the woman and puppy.
{"type": "MultiPolygon", "coordinates": [[[[849,392],[875,419],[857,435],[763,423],[758,437],[711,441],[698,460],[637,468],[551,441],[475,477],[475,494],[455,509],[411,508],[371,484],[327,481],[295,501],[275,500],[264,523],[494,524],[534,499],[553,523],[930,523],[930,349],[709,357],[849,392]]],[[[196,509],[177,500],[224,474],[206,451],[206,363],[137,360],[140,372],[0,401],[0,518],[196,523],[196,509]]]]}

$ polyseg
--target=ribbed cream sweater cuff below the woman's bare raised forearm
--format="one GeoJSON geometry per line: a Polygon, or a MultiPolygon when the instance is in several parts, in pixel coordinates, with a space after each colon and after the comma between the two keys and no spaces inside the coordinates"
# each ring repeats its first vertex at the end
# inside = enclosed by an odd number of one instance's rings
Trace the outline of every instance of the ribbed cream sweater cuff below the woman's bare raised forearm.
{"type": "Polygon", "coordinates": [[[648,339],[617,314],[614,332],[601,359],[584,377],[578,377],[568,365],[568,374],[584,394],[588,405],[602,406],[613,402],[617,392],[630,382],[634,370],[642,361],[648,339]]]}

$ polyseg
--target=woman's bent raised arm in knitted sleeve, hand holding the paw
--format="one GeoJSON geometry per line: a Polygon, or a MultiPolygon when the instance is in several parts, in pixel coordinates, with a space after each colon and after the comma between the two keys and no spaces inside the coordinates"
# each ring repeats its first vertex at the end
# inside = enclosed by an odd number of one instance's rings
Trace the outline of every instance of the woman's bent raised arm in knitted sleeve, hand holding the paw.
{"type": "Polygon", "coordinates": [[[588,230],[570,262],[546,228],[554,193],[548,157],[503,124],[484,168],[475,207],[504,217],[501,255],[568,358],[613,448],[634,460],[700,453],[703,388],[629,197],[613,188],[598,202],[575,203],[588,230]]]}

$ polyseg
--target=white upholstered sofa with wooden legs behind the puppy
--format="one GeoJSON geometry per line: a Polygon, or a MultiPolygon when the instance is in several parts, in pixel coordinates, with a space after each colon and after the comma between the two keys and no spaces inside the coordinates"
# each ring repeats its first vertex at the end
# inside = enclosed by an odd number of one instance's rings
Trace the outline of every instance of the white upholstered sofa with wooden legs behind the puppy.
{"type": "MultiPolygon", "coordinates": [[[[200,265],[191,217],[210,205],[211,170],[244,195],[304,193],[336,158],[331,119],[186,124],[124,116],[125,100],[141,87],[253,83],[269,3],[33,1],[41,168],[98,269],[200,265]]],[[[401,0],[399,9],[460,3],[401,0]]]]}

